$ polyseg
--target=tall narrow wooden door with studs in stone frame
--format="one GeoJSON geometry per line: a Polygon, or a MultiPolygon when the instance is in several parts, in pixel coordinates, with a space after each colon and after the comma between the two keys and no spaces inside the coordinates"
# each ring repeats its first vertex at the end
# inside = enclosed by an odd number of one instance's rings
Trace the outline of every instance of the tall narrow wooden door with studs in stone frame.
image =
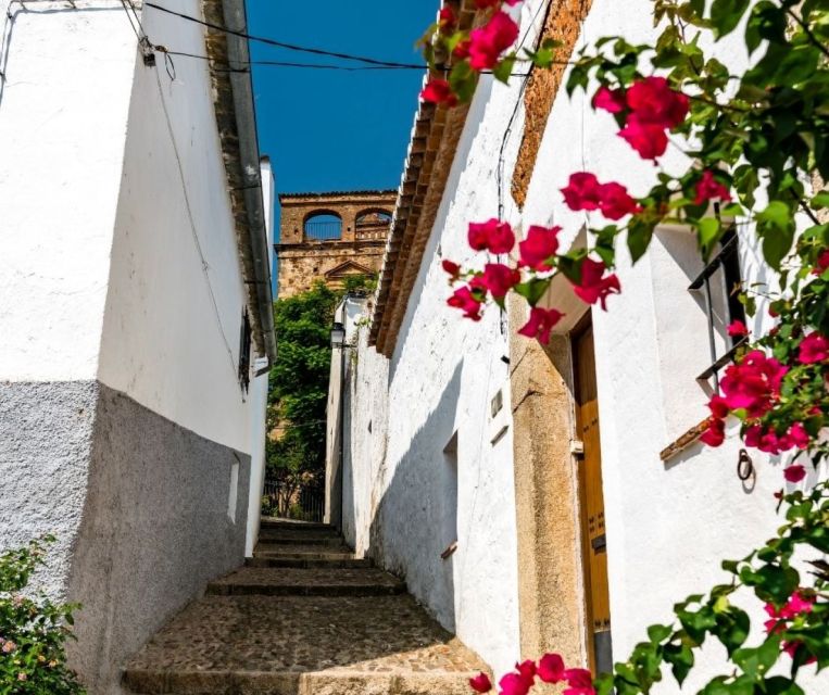
{"type": "Polygon", "coordinates": [[[599,443],[599,397],[595,384],[593,328],[587,325],[573,339],[576,377],[576,427],[583,454],[579,456],[579,497],[587,598],[590,668],[604,673],[613,666],[611,603],[607,589],[607,542],[602,493],[602,452],[599,443]]]}

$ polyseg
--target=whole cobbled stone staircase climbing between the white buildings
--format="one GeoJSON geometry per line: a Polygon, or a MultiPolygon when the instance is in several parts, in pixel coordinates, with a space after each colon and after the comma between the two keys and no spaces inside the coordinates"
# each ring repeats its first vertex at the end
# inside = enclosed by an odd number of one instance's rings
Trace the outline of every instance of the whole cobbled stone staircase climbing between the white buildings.
{"type": "Polygon", "coordinates": [[[126,666],[140,695],[468,695],[480,659],[328,526],[263,520],[246,566],[126,666]]]}

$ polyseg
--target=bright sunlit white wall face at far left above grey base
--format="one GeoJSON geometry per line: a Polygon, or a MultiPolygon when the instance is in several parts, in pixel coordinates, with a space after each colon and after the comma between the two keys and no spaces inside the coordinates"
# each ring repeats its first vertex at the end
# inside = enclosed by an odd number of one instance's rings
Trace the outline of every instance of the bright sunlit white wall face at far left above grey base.
{"type": "Polygon", "coordinates": [[[121,3],[0,0],[0,379],[95,378],[135,35],[121,3]],[[95,108],[90,108],[90,105],[95,108]]]}

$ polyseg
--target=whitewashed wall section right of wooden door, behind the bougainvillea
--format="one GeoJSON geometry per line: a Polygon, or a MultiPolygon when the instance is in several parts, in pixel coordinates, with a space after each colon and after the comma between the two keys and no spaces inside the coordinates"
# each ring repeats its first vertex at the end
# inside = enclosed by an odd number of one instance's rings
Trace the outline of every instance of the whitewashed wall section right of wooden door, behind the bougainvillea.
{"type": "MultiPolygon", "coordinates": [[[[652,43],[648,0],[595,0],[579,43],[603,35],[652,43]]],[[[738,31],[739,35],[739,31],[738,31]]],[[[739,40],[724,41],[716,52],[738,68],[744,51],[739,40]]],[[[742,63],[744,64],[744,63],[742,63]]],[[[571,172],[589,170],[600,180],[619,180],[643,194],[656,169],[616,135],[608,114],[593,113],[582,93],[569,100],[561,90],[547,125],[527,203],[516,219],[562,225],[569,239],[586,222],[564,205],[558,189],[571,172]]],[[[682,165],[678,154],[668,169],[682,165]]],[[[758,250],[741,227],[741,266],[749,280],[765,278],[758,250]]],[[[705,391],[695,377],[711,363],[707,326],[699,298],[688,286],[702,269],[694,241],[680,230],[657,231],[652,249],[636,268],[626,251],[619,256],[623,293],[610,311],[593,311],[600,399],[604,495],[610,563],[614,658],[623,659],[643,639],[645,627],[665,621],[675,602],[726,578],[723,558],[738,558],[767,539],[777,526],[773,492],[783,485],[782,459],[752,452],[756,481],[743,484],[736,467],[736,427],[717,450],[695,444],[667,465],[658,452],[707,415],[705,391]]],[[[554,305],[556,298],[551,303],[554,305]]],[[[767,319],[750,326],[759,329],[767,319]]],[[[720,351],[721,354],[721,351],[720,351]]],[[[746,608],[762,622],[762,606],[746,608]]],[[[686,685],[721,672],[725,650],[706,649],[686,685]]],[[[826,687],[826,679],[821,679],[826,687]]],[[[818,690],[808,692],[822,692],[818,690]]],[[[683,691],[683,692],[686,692],[683,691]]],[[[660,693],[677,693],[663,683],[660,693]]]]}

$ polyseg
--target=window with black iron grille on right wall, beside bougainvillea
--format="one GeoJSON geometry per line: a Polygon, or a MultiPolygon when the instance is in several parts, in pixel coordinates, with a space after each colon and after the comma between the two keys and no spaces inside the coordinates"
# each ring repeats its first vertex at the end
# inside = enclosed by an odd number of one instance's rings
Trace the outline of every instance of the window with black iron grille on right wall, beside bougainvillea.
{"type": "Polygon", "coordinates": [[[717,333],[724,332],[731,321],[745,323],[745,309],[739,300],[741,278],[738,251],[737,230],[731,226],[723,236],[719,252],[711,258],[688,288],[691,292],[703,293],[708,318],[711,365],[696,379],[707,381],[713,377],[715,390],[719,390],[719,370],[731,362],[737,349],[746,341],[744,337],[727,338],[726,349],[718,354],[717,333]],[[717,302],[718,296],[725,299],[725,301],[720,300],[720,306],[717,302]]]}

